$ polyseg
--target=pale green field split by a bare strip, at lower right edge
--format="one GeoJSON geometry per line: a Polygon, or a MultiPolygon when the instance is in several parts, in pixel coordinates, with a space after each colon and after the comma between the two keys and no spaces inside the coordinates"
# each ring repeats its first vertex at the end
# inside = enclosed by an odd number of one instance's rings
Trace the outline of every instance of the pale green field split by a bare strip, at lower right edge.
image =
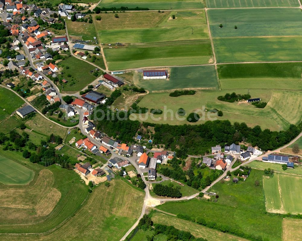
{"type": "Polygon", "coordinates": [[[275,173],[263,177],[266,210],[271,213],[302,213],[302,177],[275,173]]]}

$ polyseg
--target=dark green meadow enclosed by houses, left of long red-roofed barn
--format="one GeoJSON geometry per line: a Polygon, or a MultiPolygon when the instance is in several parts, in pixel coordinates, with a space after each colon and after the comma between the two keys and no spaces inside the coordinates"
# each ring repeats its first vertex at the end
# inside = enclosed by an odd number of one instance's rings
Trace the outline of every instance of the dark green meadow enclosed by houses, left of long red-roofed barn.
{"type": "Polygon", "coordinates": [[[62,70],[64,74],[59,76],[68,81],[68,83],[58,86],[63,92],[80,91],[97,78],[93,73],[90,73],[91,70],[95,69],[93,65],[73,56],[59,62],[58,66],[64,69],[62,70]]]}

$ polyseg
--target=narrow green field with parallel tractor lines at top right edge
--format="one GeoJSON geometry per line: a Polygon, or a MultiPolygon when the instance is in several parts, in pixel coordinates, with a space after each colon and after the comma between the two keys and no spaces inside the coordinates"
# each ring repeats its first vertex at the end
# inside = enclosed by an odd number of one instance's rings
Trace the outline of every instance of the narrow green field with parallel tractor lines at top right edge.
{"type": "Polygon", "coordinates": [[[207,8],[298,7],[296,0],[206,0],[207,8]]]}

